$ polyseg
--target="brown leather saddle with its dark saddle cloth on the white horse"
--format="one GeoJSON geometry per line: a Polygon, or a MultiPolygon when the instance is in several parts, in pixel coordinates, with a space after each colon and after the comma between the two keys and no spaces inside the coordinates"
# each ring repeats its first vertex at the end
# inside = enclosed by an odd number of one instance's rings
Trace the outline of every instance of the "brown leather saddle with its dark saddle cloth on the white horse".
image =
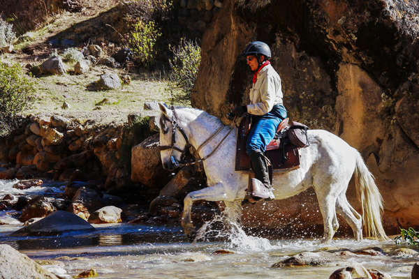
{"type": "MultiPolygon", "coordinates": [[[[300,153],[298,146],[288,140],[288,121],[286,118],[277,128],[274,139],[266,146],[265,156],[270,160],[275,172],[288,172],[300,167],[300,153]]],[[[237,135],[235,170],[250,171],[250,158],[246,153],[247,134],[250,130],[250,116],[244,116],[240,121],[237,135]]]]}

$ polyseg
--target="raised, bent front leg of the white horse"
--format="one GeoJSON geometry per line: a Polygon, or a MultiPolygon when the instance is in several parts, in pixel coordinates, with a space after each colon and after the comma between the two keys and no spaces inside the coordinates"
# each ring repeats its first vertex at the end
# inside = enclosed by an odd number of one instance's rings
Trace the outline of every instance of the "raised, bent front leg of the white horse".
{"type": "Polygon", "coordinates": [[[184,211],[182,215],[182,227],[185,234],[188,236],[195,232],[191,220],[191,208],[193,202],[200,199],[205,199],[210,202],[216,201],[233,201],[237,191],[228,189],[222,182],[216,183],[214,186],[203,188],[186,195],[184,199],[184,211]]]}

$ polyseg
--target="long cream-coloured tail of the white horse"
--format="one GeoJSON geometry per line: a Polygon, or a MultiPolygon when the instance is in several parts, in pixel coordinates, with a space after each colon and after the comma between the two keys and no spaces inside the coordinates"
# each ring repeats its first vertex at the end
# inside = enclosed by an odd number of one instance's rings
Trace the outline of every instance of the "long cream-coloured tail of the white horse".
{"type": "Polygon", "coordinates": [[[388,240],[381,223],[383,212],[383,197],[374,181],[374,176],[369,172],[362,156],[358,151],[355,164],[355,188],[362,205],[362,219],[364,229],[368,236],[376,239],[388,240]]]}

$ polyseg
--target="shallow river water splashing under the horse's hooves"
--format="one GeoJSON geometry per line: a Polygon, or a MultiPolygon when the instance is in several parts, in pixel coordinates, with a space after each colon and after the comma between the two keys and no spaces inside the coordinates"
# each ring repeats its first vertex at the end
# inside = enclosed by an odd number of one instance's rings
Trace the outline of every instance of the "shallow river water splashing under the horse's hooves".
{"type": "Polygon", "coordinates": [[[72,278],[88,269],[95,269],[97,278],[120,279],[329,278],[333,271],[354,264],[378,269],[392,278],[411,278],[413,264],[419,260],[418,254],[394,255],[397,248],[406,247],[395,245],[395,241],[336,239],[324,245],[318,239],[268,240],[245,234],[237,224],[222,233],[212,232],[214,226],[208,225],[205,233],[201,232],[195,240],[186,238],[180,227],[126,223],[94,225],[94,232],[75,231],[59,237],[8,236],[20,226],[0,226],[0,243],[24,252],[31,259],[51,261],[44,267],[61,272],[62,278],[72,278]],[[271,268],[272,264],[300,252],[372,247],[381,248],[383,254],[337,258],[325,266],[271,268]]]}

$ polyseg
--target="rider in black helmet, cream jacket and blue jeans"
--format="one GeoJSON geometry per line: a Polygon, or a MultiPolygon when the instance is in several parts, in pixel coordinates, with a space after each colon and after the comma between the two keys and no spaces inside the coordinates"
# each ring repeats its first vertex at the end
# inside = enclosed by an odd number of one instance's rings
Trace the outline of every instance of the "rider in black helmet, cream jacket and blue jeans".
{"type": "Polygon", "coordinates": [[[241,116],[247,112],[251,115],[246,152],[250,157],[255,178],[264,188],[262,191],[255,191],[252,183],[253,191],[249,201],[256,202],[258,199],[274,199],[264,153],[265,147],[274,138],[277,127],[286,118],[287,112],[282,101],[281,78],[270,63],[270,47],[266,43],[253,41],[247,45],[242,55],[246,56],[247,65],[253,71],[253,85],[249,93],[249,105],[236,106],[233,114],[241,116]]]}

